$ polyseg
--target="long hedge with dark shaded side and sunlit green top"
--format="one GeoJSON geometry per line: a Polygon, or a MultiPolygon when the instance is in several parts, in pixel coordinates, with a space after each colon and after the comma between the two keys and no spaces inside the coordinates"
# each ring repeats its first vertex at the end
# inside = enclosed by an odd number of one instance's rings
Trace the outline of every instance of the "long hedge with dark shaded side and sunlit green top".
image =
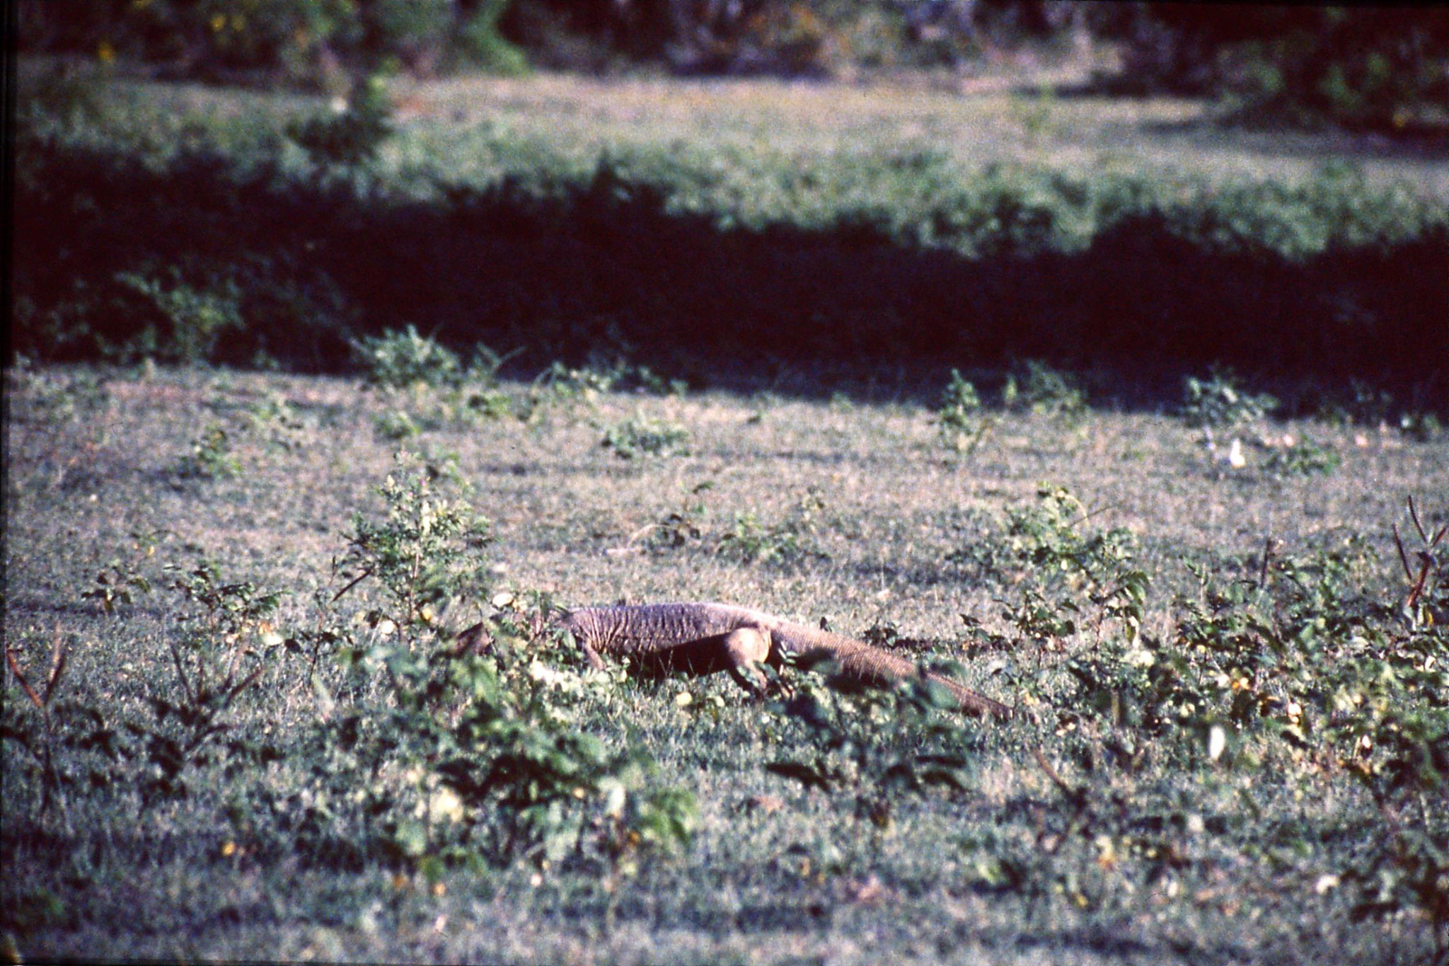
{"type": "Polygon", "coordinates": [[[1446,394],[1449,213],[1350,172],[1214,187],[662,151],[584,172],[496,149],[500,177],[425,190],[440,175],[26,139],[14,349],[336,369],[356,333],[416,323],[535,361],[1227,362],[1446,394]]]}

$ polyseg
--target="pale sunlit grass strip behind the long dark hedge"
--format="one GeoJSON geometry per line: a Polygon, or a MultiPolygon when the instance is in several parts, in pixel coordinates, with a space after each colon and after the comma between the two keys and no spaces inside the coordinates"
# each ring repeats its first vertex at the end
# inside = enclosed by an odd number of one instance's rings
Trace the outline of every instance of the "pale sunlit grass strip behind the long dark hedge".
{"type": "MultiPolygon", "coordinates": [[[[43,62],[22,65],[22,96],[45,90],[43,77],[43,62]]],[[[1348,164],[1374,184],[1408,182],[1449,198],[1442,145],[1224,126],[1201,100],[1071,93],[1082,80],[1042,71],[864,85],[572,75],[400,78],[391,90],[404,136],[384,149],[383,162],[406,169],[443,158],[451,177],[467,178],[459,154],[471,151],[480,165],[472,174],[487,174],[488,142],[500,135],[543,143],[582,168],[593,168],[606,148],[659,143],[704,154],[768,151],[801,158],[878,154],[885,146],[901,155],[942,154],[968,168],[1014,164],[1078,175],[1116,171],[1290,184],[1313,177],[1324,164],[1348,164]]],[[[88,83],[80,112],[91,113],[93,125],[107,136],[129,129],[136,139],[177,148],[217,132],[238,143],[265,139],[287,120],[319,109],[325,101],[317,97],[117,77],[88,83]]]]}

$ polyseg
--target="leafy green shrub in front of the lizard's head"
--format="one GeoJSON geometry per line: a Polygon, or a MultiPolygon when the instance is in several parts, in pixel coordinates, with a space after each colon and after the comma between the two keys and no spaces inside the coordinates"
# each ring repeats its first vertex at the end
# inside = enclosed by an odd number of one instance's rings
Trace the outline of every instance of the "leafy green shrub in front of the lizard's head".
{"type": "Polygon", "coordinates": [[[539,660],[549,643],[513,595],[494,597],[485,653],[440,634],[446,601],[487,597],[483,518],[435,494],[410,461],[398,474],[380,488],[384,516],[354,520],[339,562],[349,582],[332,597],[375,581],[371,636],[325,613],[310,633],[358,697],[303,737],[294,768],[307,792],[264,795],[294,823],[296,846],[319,862],[369,856],[436,881],[449,866],[513,862],[629,875],[640,856],[687,841],[693,797],[646,788],[642,752],[569,727],[562,704],[580,682],[539,660]],[[369,781],[354,794],[359,772],[369,781]]]}

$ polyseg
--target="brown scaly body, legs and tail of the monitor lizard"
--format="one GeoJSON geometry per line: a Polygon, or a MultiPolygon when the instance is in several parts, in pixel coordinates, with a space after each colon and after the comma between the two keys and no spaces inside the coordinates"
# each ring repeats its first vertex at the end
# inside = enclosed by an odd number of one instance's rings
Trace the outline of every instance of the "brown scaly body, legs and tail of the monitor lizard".
{"type": "Polygon", "coordinates": [[[785,656],[835,660],[842,673],[865,684],[923,675],[945,686],[968,714],[1010,717],[998,701],[951,678],[922,672],[913,662],[859,640],[729,604],[639,604],[584,607],[559,621],[584,655],[603,668],[600,653],[632,658],[649,671],[714,673],[727,671],[748,691],[761,692],[761,663],[780,666],[785,656]]]}

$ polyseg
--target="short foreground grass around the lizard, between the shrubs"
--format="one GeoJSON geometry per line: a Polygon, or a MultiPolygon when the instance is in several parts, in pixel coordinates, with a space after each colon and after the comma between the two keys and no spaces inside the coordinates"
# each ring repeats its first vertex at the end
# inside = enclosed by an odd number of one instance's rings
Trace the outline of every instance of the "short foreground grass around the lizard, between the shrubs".
{"type": "MultiPolygon", "coordinates": [[[[38,685],[52,640],[68,649],[55,736],[85,733],[84,717],[70,717],[77,708],[99,708],[123,731],[126,721],[151,721],[154,698],[175,700],[170,644],[184,637],[183,618],[193,611],[164,589],[174,574],[165,565],[188,571],[210,558],[227,582],[284,591],[270,631],[246,627],[232,642],[255,650],[242,660],[264,672],[225,717],[232,737],[274,746],[283,759],[249,763],[219,747],[181,773],[190,789],[183,797],[143,799],[154,766],[145,755],[107,763],[99,749],[71,747],[59,760],[75,781],[64,786],[64,801],[43,805],[45,781],[16,740],[39,734],[42,723],[7,672],[12,798],[0,889],[4,928],[26,956],[1013,963],[1430,956],[1423,908],[1356,918],[1356,886],[1343,870],[1358,868],[1358,856],[1392,824],[1330,753],[1335,746],[1320,743],[1327,739],[1313,730],[1303,743],[1279,737],[1284,705],[1265,713],[1272,727],[1248,718],[1216,765],[1206,757],[1206,734],[1171,727],[1135,757],[1120,743],[1151,731],[1130,714],[1116,724],[1110,711],[1097,717],[1066,684],[1071,662],[1094,668],[1111,653],[1116,624],[1103,633],[1084,613],[1074,633],[1010,647],[991,634],[1017,636],[1004,610],[1019,607],[1027,588],[1091,610],[1090,584],[1039,584],[1051,575],[1013,549],[1026,537],[1013,534],[1007,517],[1039,505],[1043,479],[1081,495],[1084,511],[1069,523],[1084,534],[1123,527],[1140,542],[1135,565],[1151,576],[1142,633],[1158,642],[1162,660],[1193,653],[1178,637],[1187,621],[1177,595],[1198,605],[1210,600],[1187,565],[1226,592],[1268,569],[1269,536],[1277,560],[1339,560],[1345,575],[1323,587],[1397,607],[1406,584],[1390,524],[1411,536],[1403,516],[1408,494],[1426,501],[1430,529],[1445,523],[1433,503],[1449,491],[1442,440],[1375,432],[1359,440],[1352,427],[1262,421],[1243,430],[1248,465],[1232,469],[1175,419],[1016,411],[995,414],[994,429],[965,455],[943,448],[940,427],[910,403],[551,391],[526,406],[543,390],[504,382],[494,391],[527,419],[442,420],[406,440],[440,488],[452,474],[469,481],[471,501],[493,521],[488,592],[452,601],[446,624],[487,613],[483,597],[529,589],[569,605],[738,601],[810,623],[827,618],[851,634],[890,626],[898,634],[887,637],[890,646],[924,660],[961,659],[968,684],[1036,717],[962,726],[951,747],[966,759],[964,786],[901,792],[885,815],[871,818],[858,795],[880,782],[868,768],[874,759],[827,755],[839,768],[862,768],[848,772],[856,781],[829,789],[767,772],[771,760],[811,762],[823,746],[788,714],[745,701],[726,679],[594,681],[574,700],[558,698],[559,707],[610,747],[646,749],[655,782],[697,797],[693,844],[672,859],[640,857],[632,875],[601,872],[577,856],[503,868],[459,862],[429,875],[412,860],[368,852],[383,815],[354,828],[352,857],[306,846],[300,820],[310,814],[304,805],[317,804],[309,773],[323,768],[306,750],[307,736],[354,705],[385,713],[393,705],[375,698],[388,672],[375,668],[359,685],[336,663],[339,655],[314,662],[306,650],[268,644],[265,633],[303,637],[339,608],[359,642],[385,640],[367,623],[371,610],[388,608],[375,582],[327,604],[348,579],[333,560],[355,532],[354,514],[378,517],[385,508],[374,488],[398,472],[390,414],[407,408],[425,424],[422,413],[439,406],[442,390],[388,392],[335,378],[201,369],[46,368],[10,378],[4,633],[38,685]],[[677,426],[688,445],[622,458],[601,440],[625,420],[677,426]],[[199,463],[212,423],[227,443],[213,445],[220,452],[199,463]],[[1284,433],[1311,436],[1340,463],[1327,475],[1274,472],[1281,446],[1274,440],[1284,433]],[[711,487],[698,490],[701,482],[711,487]],[[772,542],[780,553],[742,553],[739,534],[751,533],[756,546],[772,542]],[[117,595],[109,613],[97,591],[117,584],[100,579],[103,572],[145,575],[155,589],[133,587],[133,600],[117,595]],[[677,704],[681,691],[693,695],[691,707],[677,704]],[[91,782],[91,773],[106,781],[91,782]],[[1053,773],[1084,798],[1058,786],[1053,773]]],[[[1275,568],[1272,579],[1290,587],[1291,571],[1275,568]]],[[[1290,595],[1275,600],[1293,607],[1290,595]]],[[[1323,607],[1343,613],[1332,601],[1323,607]]],[[[1365,610],[1352,627],[1314,631],[1306,623],[1304,643],[1288,653],[1348,646],[1398,620],[1365,610]]],[[[214,644],[223,653],[230,646],[220,634],[214,644]]],[[[587,678],[575,655],[549,650],[546,640],[519,647],[525,665],[538,658],[565,679],[587,678]]],[[[1295,673],[1265,665],[1248,694],[1266,700],[1303,686],[1295,673]]],[[[1137,694],[1122,688],[1124,700],[1137,694]]],[[[859,737],[882,753],[933,747],[903,718],[869,704],[859,714],[859,737]]],[[[1369,711],[1345,720],[1358,715],[1369,711]]],[[[1332,724],[1327,714],[1316,721],[1332,724]]],[[[387,772],[345,775],[349,792],[394,781],[387,772]]],[[[345,811],[342,802],[336,808],[345,811]]],[[[1442,823],[1421,828],[1443,840],[1442,823]]]]}

